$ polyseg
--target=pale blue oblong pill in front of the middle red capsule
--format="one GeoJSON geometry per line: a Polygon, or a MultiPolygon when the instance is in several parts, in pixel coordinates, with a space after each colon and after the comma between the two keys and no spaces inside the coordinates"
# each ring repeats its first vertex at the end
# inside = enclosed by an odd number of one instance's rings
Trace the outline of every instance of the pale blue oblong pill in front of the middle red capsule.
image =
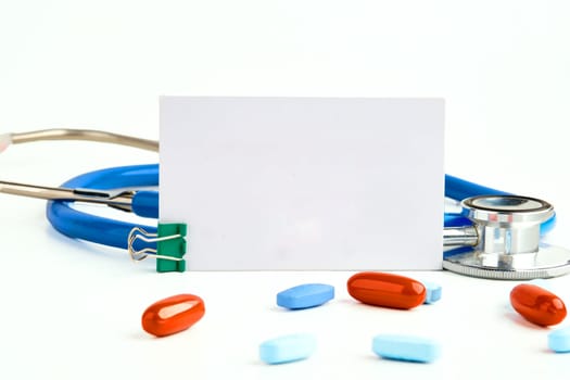
{"type": "Polygon", "coordinates": [[[397,334],[376,335],[372,351],[383,358],[419,363],[431,363],[441,354],[440,344],[431,339],[397,334]]]}

